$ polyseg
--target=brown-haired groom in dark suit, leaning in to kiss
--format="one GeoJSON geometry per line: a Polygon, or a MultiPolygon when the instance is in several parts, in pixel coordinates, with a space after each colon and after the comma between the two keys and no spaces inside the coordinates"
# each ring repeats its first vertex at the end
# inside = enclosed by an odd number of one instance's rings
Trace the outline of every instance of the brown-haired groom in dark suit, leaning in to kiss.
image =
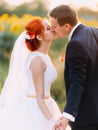
{"type": "Polygon", "coordinates": [[[52,30],[68,36],[64,79],[67,104],[54,130],[98,130],[98,28],[79,22],[76,11],[60,5],[49,12],[52,30]]]}

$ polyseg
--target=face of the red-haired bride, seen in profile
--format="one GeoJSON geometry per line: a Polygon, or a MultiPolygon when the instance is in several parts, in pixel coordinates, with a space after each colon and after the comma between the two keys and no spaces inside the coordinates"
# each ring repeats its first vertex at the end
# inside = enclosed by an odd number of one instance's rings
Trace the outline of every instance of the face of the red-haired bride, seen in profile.
{"type": "Polygon", "coordinates": [[[42,24],[44,25],[43,40],[52,41],[56,38],[56,34],[52,31],[50,24],[47,20],[43,20],[42,24]]]}

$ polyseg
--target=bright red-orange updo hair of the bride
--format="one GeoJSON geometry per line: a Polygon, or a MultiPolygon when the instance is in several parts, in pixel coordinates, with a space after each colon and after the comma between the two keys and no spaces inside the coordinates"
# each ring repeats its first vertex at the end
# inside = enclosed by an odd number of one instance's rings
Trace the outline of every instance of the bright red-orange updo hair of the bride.
{"type": "Polygon", "coordinates": [[[41,35],[44,31],[41,18],[35,18],[30,20],[25,25],[26,34],[30,36],[30,39],[26,38],[27,48],[31,51],[35,51],[40,47],[40,41],[36,38],[37,35],[41,35]],[[32,38],[33,35],[33,38],[32,38]]]}

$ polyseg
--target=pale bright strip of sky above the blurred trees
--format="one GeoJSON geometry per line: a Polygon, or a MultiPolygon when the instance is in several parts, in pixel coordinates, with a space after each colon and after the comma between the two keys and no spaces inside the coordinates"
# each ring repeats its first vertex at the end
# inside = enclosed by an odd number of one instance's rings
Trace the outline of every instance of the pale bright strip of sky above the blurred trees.
{"type": "MultiPolygon", "coordinates": [[[[5,0],[5,2],[9,3],[13,6],[18,6],[24,2],[32,2],[34,0],[5,0]]],[[[35,0],[36,1],[36,0],[35,0]]],[[[59,4],[72,4],[76,8],[87,7],[92,10],[98,10],[98,0],[41,0],[48,5],[48,8],[51,9],[59,4]]]]}

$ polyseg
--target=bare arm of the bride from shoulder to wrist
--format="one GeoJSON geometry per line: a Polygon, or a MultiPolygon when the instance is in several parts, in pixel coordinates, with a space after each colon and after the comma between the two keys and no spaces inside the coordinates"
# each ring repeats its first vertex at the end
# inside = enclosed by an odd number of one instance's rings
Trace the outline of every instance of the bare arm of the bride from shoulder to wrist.
{"type": "Polygon", "coordinates": [[[36,57],[32,60],[30,65],[32,71],[32,77],[35,84],[37,103],[48,120],[51,120],[53,115],[51,114],[44,98],[44,72],[46,69],[45,63],[40,57],[36,57]]]}

